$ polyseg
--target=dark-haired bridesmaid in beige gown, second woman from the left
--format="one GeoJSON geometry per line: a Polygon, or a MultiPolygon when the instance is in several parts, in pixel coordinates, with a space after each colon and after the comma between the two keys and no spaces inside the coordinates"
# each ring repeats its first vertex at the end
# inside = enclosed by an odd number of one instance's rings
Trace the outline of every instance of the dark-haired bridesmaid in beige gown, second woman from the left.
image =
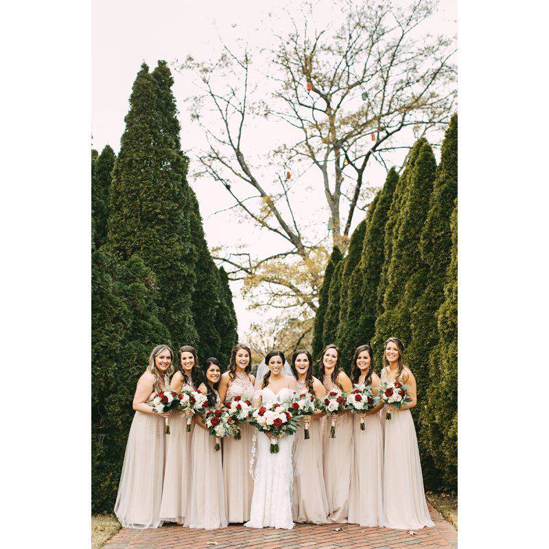
{"type": "MultiPolygon", "coordinates": [[[[184,345],[179,349],[179,364],[172,377],[170,389],[180,393],[194,390],[200,385],[202,373],[194,347],[184,345]]],[[[185,522],[187,493],[191,482],[191,432],[187,432],[187,417],[180,412],[170,414],[170,435],[166,437],[166,468],[160,517],[164,522],[185,522]]]]}

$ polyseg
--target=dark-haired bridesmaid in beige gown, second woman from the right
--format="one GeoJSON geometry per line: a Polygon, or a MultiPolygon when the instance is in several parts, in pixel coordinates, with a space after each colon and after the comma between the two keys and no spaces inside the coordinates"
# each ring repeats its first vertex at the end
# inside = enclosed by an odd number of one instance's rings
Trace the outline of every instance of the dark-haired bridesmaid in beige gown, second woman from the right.
{"type": "MultiPolygon", "coordinates": [[[[370,345],[360,345],[353,357],[353,385],[371,386],[377,395],[381,382],[374,373],[370,345]]],[[[383,520],[383,433],[379,410],[353,413],[354,465],[349,493],[349,522],[360,526],[382,526],[383,520]],[[364,431],[360,430],[364,418],[364,431]]]]}

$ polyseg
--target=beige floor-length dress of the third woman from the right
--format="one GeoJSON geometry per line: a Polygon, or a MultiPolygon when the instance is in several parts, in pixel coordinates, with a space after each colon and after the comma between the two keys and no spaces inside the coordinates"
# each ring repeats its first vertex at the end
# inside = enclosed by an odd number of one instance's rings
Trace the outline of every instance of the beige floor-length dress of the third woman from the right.
{"type": "MultiPolygon", "coordinates": [[[[342,390],[331,381],[331,377],[325,376],[323,384],[327,393],[342,393],[342,390]]],[[[324,482],[328,499],[328,519],[329,522],[344,524],[348,522],[349,489],[353,469],[353,414],[340,414],[336,423],[335,439],[329,438],[330,417],[325,416],[320,421],[323,423],[324,482]]]]}

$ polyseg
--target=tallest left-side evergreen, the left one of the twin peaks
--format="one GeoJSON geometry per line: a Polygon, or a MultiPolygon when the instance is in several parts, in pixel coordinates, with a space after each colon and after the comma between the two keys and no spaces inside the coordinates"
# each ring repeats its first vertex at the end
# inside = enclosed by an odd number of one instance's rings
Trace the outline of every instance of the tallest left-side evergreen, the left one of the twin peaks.
{"type": "MultiPolygon", "coordinates": [[[[167,102],[166,89],[143,63],[133,84],[113,170],[108,246],[121,259],[138,254],[154,270],[159,315],[170,329],[172,344],[196,344],[188,159],[174,137],[178,122],[172,119],[169,124],[167,102]]],[[[175,118],[175,111],[171,112],[175,118]]]]}

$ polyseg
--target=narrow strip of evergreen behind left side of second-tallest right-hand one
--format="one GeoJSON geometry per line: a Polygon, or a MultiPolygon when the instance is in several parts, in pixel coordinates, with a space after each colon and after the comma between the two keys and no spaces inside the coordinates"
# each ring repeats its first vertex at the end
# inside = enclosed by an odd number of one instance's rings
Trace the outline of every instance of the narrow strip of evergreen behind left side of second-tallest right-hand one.
{"type": "MultiPolygon", "coordinates": [[[[425,139],[418,139],[412,150],[410,150],[410,156],[406,162],[404,173],[397,181],[397,186],[393,192],[393,200],[391,201],[390,208],[387,213],[387,220],[384,227],[384,263],[379,278],[379,284],[377,285],[377,303],[376,303],[376,317],[380,316],[384,312],[384,299],[385,290],[388,284],[388,270],[390,265],[390,258],[393,255],[394,241],[398,234],[399,218],[404,208],[403,201],[406,193],[406,187],[408,185],[408,179],[414,171],[414,165],[419,155],[419,150],[424,143],[427,143],[425,139]]],[[[376,338],[377,341],[377,338],[376,338]]]]}

